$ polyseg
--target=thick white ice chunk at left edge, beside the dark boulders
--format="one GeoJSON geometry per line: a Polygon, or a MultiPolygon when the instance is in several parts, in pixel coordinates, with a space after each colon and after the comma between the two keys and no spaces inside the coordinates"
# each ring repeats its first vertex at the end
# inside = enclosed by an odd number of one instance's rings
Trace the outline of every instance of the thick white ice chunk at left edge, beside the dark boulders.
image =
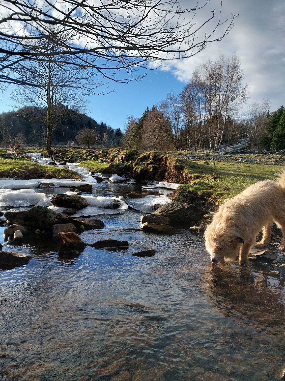
{"type": "Polygon", "coordinates": [[[6,189],[6,192],[2,192],[0,195],[0,206],[28,207],[29,205],[36,205],[45,198],[44,193],[36,193],[32,189],[18,191],[6,189]]]}

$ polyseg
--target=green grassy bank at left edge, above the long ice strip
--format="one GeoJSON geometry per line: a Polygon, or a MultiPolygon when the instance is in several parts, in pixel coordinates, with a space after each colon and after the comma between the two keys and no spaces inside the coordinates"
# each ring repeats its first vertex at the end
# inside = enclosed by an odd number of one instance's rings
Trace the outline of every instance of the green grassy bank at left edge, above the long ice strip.
{"type": "Polygon", "coordinates": [[[74,171],[40,165],[21,157],[11,157],[6,150],[0,150],[0,177],[11,179],[80,179],[74,171]]]}

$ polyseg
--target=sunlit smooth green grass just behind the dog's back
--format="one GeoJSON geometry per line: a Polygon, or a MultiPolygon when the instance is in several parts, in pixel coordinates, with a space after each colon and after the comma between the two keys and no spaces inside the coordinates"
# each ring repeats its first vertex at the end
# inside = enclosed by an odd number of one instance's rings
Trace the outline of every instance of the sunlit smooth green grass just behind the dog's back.
{"type": "MultiPolygon", "coordinates": [[[[201,162],[196,162],[201,166],[201,162]]],[[[220,205],[225,199],[242,192],[256,181],[275,179],[282,165],[211,162],[205,172],[189,184],[181,185],[175,199],[206,199],[220,205]]]]}

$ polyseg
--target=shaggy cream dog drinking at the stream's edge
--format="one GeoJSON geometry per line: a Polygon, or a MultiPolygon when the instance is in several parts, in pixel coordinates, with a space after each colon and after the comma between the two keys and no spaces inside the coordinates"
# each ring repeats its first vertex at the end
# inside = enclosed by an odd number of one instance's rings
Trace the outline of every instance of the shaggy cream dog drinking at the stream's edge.
{"type": "Polygon", "coordinates": [[[268,242],[272,221],[282,230],[279,249],[285,251],[285,170],[277,182],[256,182],[220,206],[204,234],[212,265],[222,258],[234,261],[238,255],[240,261],[245,261],[253,245],[264,247],[268,242]],[[263,237],[255,243],[262,228],[263,237]]]}

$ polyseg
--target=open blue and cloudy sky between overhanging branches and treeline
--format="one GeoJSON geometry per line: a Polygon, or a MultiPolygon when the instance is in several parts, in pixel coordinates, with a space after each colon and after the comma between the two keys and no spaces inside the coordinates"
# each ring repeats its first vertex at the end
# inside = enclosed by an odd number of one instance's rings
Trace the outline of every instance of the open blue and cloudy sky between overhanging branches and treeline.
{"type": "MultiPolygon", "coordinates": [[[[183,0],[189,6],[192,0],[183,0]]],[[[210,0],[197,13],[195,20],[201,23],[220,9],[219,0],[210,0]]],[[[112,128],[125,130],[128,115],[140,117],[146,106],[152,107],[173,91],[178,94],[190,81],[193,70],[201,62],[220,54],[231,57],[236,54],[244,69],[244,81],[249,86],[249,101],[271,101],[271,111],[285,104],[285,2],[283,0],[224,0],[222,19],[238,15],[234,27],[221,42],[212,43],[192,58],[170,61],[168,69],[146,70],[141,81],[128,84],[110,83],[114,93],[92,96],[87,114],[97,122],[103,121],[112,128]]],[[[12,108],[9,100],[11,87],[3,94],[0,112],[12,108]]],[[[243,116],[245,105],[240,110],[243,116]]]]}

